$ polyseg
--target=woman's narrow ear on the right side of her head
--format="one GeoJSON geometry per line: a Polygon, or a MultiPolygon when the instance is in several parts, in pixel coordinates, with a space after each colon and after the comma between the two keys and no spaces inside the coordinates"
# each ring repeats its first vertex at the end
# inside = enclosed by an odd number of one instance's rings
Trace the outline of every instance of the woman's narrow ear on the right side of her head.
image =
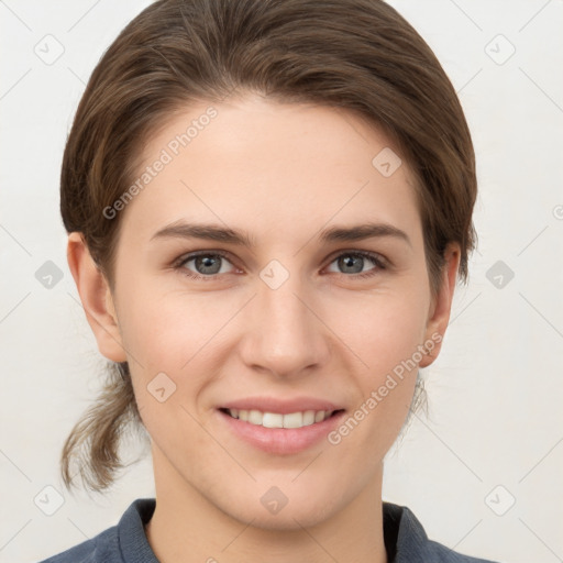
{"type": "Polygon", "coordinates": [[[444,251],[444,258],[445,264],[442,269],[441,287],[430,305],[424,333],[424,342],[433,342],[434,347],[429,354],[422,356],[419,367],[429,366],[440,354],[452,310],[453,294],[461,258],[460,245],[457,243],[450,243],[444,251]]]}

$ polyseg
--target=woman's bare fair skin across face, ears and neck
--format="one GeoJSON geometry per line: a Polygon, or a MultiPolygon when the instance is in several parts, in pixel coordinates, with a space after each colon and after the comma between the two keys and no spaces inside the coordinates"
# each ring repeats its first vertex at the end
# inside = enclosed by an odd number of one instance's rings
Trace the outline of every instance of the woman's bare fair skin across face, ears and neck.
{"type": "MultiPolygon", "coordinates": [[[[186,124],[198,103],[148,140],[144,167],[186,124]]],[[[384,177],[372,159],[393,144],[360,117],[257,95],[214,103],[218,115],[121,211],[115,286],[95,267],[79,233],[68,263],[100,352],[130,364],[151,435],[156,509],[147,539],[163,563],[387,561],[383,541],[383,459],[411,402],[417,369],[338,445],[276,455],[242,442],[217,407],[249,396],[313,396],[352,413],[417,346],[443,335],[460,252],[445,252],[432,299],[422,227],[407,163],[384,177]],[[183,184],[183,180],[185,184],[183,184]],[[153,234],[176,220],[246,230],[255,246],[153,234]],[[409,239],[319,242],[321,230],[386,222],[409,239]],[[231,253],[213,280],[195,251],[231,253]],[[346,269],[339,257],[378,253],[346,269]],[[289,278],[272,289],[260,277],[278,261],[289,278]],[[362,265],[363,264],[363,265],[362,265]],[[164,372],[176,391],[147,391],[164,372]],[[261,497],[288,498],[271,514],[261,497]]],[[[394,148],[395,150],[395,148],[394,148]]],[[[398,151],[395,150],[397,154],[398,151]]],[[[350,257],[347,258],[350,261],[350,257]]],[[[216,272],[216,271],[213,271],[216,272]]],[[[420,367],[440,352],[423,355],[420,367]]]]}

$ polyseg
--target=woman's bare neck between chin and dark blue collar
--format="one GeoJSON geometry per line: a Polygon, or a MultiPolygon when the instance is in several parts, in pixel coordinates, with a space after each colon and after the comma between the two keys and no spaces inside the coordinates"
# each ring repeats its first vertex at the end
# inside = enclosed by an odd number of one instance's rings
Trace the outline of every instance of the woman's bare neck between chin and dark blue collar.
{"type": "Polygon", "coordinates": [[[145,531],[161,563],[263,563],[265,556],[268,563],[387,563],[383,468],[349,505],[329,518],[317,515],[313,525],[303,526],[296,514],[279,529],[233,517],[169,466],[158,471],[157,457],[154,463],[156,508],[145,531]]]}

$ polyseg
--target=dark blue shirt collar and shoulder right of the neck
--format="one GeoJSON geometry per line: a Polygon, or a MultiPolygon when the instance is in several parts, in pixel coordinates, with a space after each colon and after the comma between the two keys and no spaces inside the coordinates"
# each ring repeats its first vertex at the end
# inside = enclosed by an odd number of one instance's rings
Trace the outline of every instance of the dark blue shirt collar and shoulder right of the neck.
{"type": "Polygon", "coordinates": [[[383,504],[384,532],[393,563],[495,563],[453,551],[428,538],[422,525],[406,506],[383,504]]]}

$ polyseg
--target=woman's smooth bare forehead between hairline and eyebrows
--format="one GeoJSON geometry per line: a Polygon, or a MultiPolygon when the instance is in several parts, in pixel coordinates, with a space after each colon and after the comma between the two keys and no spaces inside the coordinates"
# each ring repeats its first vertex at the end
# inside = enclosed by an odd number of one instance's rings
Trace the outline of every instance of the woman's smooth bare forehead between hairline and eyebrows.
{"type": "Polygon", "coordinates": [[[121,219],[146,240],[180,219],[296,240],[331,222],[382,221],[411,239],[420,229],[396,147],[330,107],[257,96],[190,104],[147,140],[133,183],[140,189],[121,219]]]}

